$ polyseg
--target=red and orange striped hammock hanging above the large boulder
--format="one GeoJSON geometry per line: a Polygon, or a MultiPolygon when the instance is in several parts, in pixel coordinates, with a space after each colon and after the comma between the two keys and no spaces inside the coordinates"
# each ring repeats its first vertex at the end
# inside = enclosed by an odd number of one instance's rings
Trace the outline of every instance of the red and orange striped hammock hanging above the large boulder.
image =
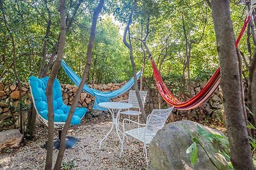
{"type": "MultiPolygon", "coordinates": [[[[251,20],[251,16],[248,15],[248,17],[245,18],[244,25],[241,29],[241,32],[239,33],[238,38],[236,39],[236,48],[250,20],[251,20]]],[[[207,82],[205,87],[202,90],[200,90],[198,94],[193,96],[188,101],[182,102],[182,101],[179,101],[177,97],[173,96],[172,92],[166,87],[161,77],[161,74],[157,69],[156,63],[154,62],[153,59],[152,59],[152,67],[153,67],[154,77],[155,77],[155,81],[156,81],[156,85],[157,85],[157,89],[159,90],[159,93],[163,97],[164,101],[166,101],[166,103],[174,106],[174,108],[176,108],[177,110],[191,110],[193,108],[200,106],[202,103],[207,101],[207,99],[209,99],[209,97],[213,94],[213,92],[216,90],[216,88],[220,84],[221,75],[220,75],[220,67],[219,67],[215,71],[215,73],[212,75],[210,80],[207,82]]]]}

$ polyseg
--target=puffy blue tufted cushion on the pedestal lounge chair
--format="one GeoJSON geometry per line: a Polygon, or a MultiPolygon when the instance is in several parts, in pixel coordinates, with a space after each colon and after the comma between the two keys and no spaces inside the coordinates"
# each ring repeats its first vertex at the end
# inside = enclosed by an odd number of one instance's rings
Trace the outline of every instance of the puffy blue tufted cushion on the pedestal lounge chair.
{"type": "MultiPolygon", "coordinates": [[[[31,76],[29,78],[29,85],[31,87],[31,92],[33,99],[35,100],[35,107],[43,118],[48,120],[47,117],[47,97],[46,97],[46,87],[47,81],[49,77],[45,78],[36,78],[35,76],[31,76]]],[[[54,108],[54,122],[66,122],[68,112],[70,110],[69,106],[66,106],[63,103],[62,95],[61,95],[61,87],[60,83],[57,79],[54,80],[54,85],[52,89],[53,95],[53,108],[54,108]]],[[[71,125],[80,124],[81,118],[84,117],[87,108],[76,108],[74,115],[71,120],[71,125]]]]}

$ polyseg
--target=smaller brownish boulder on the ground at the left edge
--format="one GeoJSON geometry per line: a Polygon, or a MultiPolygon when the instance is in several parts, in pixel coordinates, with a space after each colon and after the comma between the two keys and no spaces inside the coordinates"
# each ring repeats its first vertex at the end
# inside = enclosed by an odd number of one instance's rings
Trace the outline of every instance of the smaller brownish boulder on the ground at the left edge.
{"type": "Polygon", "coordinates": [[[0,132],[0,151],[3,148],[17,148],[22,141],[22,134],[18,129],[0,132]]]}

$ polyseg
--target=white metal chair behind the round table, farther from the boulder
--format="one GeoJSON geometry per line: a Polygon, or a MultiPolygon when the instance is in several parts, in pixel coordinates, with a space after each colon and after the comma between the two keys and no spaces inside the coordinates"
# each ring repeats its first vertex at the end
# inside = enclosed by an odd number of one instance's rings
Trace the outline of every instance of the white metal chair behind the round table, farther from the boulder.
{"type": "MultiPolygon", "coordinates": [[[[140,91],[140,98],[141,98],[143,107],[145,106],[146,97],[147,97],[147,91],[140,91]]],[[[131,103],[133,106],[133,108],[129,110],[121,111],[120,114],[128,115],[129,119],[130,119],[130,115],[138,116],[138,123],[140,123],[141,111],[140,111],[140,105],[138,103],[135,90],[130,90],[128,100],[124,100],[120,102],[128,102],[128,103],[131,103]]]]}

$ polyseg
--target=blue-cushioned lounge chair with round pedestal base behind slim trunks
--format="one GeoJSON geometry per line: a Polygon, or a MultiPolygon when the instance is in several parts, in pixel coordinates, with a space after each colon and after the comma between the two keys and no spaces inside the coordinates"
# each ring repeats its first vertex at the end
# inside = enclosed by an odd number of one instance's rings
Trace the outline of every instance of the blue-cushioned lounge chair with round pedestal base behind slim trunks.
{"type": "MultiPolygon", "coordinates": [[[[48,126],[48,111],[47,111],[47,97],[46,97],[46,87],[47,81],[49,77],[45,78],[36,78],[35,76],[31,76],[29,78],[29,87],[31,90],[31,96],[33,99],[33,104],[35,106],[36,113],[42,122],[48,126]]],[[[63,103],[62,95],[61,95],[61,87],[60,82],[55,79],[53,89],[53,108],[54,108],[54,127],[59,130],[59,139],[54,141],[54,147],[59,148],[60,146],[60,136],[61,129],[65,125],[65,122],[68,117],[68,112],[70,111],[70,107],[66,106],[63,103]]],[[[74,115],[71,120],[71,125],[78,125],[81,123],[81,119],[84,117],[87,108],[76,108],[74,115]]],[[[77,143],[77,139],[71,136],[67,136],[67,148],[71,148],[77,143]]],[[[47,145],[44,146],[45,148],[47,145]]]]}

